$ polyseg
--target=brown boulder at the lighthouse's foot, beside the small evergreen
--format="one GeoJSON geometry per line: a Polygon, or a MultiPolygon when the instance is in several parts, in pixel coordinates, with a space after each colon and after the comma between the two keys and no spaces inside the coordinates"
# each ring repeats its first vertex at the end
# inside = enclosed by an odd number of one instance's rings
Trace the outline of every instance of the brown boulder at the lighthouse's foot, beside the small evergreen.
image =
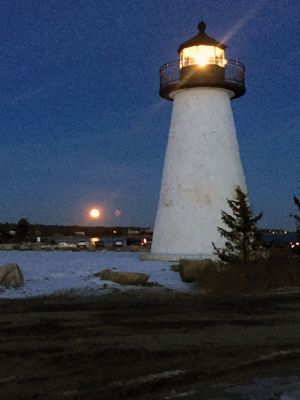
{"type": "Polygon", "coordinates": [[[199,275],[204,271],[216,270],[215,263],[210,258],[203,260],[180,260],[179,273],[184,282],[199,282],[199,275]]]}

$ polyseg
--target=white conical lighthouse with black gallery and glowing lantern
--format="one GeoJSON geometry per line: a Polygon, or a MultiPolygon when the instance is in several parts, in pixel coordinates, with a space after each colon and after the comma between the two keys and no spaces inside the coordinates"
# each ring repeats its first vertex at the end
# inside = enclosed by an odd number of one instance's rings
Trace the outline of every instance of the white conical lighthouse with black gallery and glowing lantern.
{"type": "Polygon", "coordinates": [[[246,191],[231,101],[245,93],[245,67],[206,33],[178,48],[160,68],[160,96],[173,102],[160,198],[148,259],[213,258],[221,210],[246,191]]]}

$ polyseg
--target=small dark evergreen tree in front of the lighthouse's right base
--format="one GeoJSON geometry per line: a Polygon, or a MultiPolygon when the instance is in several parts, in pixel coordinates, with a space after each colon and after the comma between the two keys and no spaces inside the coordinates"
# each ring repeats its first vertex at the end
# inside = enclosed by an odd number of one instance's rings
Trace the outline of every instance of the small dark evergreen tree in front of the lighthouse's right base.
{"type": "Polygon", "coordinates": [[[232,215],[221,211],[221,219],[228,229],[218,227],[225,238],[225,246],[220,249],[213,243],[215,254],[225,263],[246,263],[255,258],[255,252],[260,247],[256,223],[262,218],[262,213],[253,217],[248,197],[239,187],[236,197],[227,200],[227,203],[232,215]]]}

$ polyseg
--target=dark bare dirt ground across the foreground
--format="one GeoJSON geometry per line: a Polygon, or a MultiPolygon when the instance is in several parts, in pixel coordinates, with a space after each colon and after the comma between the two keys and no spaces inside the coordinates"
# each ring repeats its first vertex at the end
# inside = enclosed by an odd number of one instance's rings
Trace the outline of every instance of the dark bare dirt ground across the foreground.
{"type": "Polygon", "coordinates": [[[0,307],[0,399],[281,399],[300,377],[296,293],[145,288],[0,307]],[[241,386],[272,377],[281,386],[241,386]]]}

